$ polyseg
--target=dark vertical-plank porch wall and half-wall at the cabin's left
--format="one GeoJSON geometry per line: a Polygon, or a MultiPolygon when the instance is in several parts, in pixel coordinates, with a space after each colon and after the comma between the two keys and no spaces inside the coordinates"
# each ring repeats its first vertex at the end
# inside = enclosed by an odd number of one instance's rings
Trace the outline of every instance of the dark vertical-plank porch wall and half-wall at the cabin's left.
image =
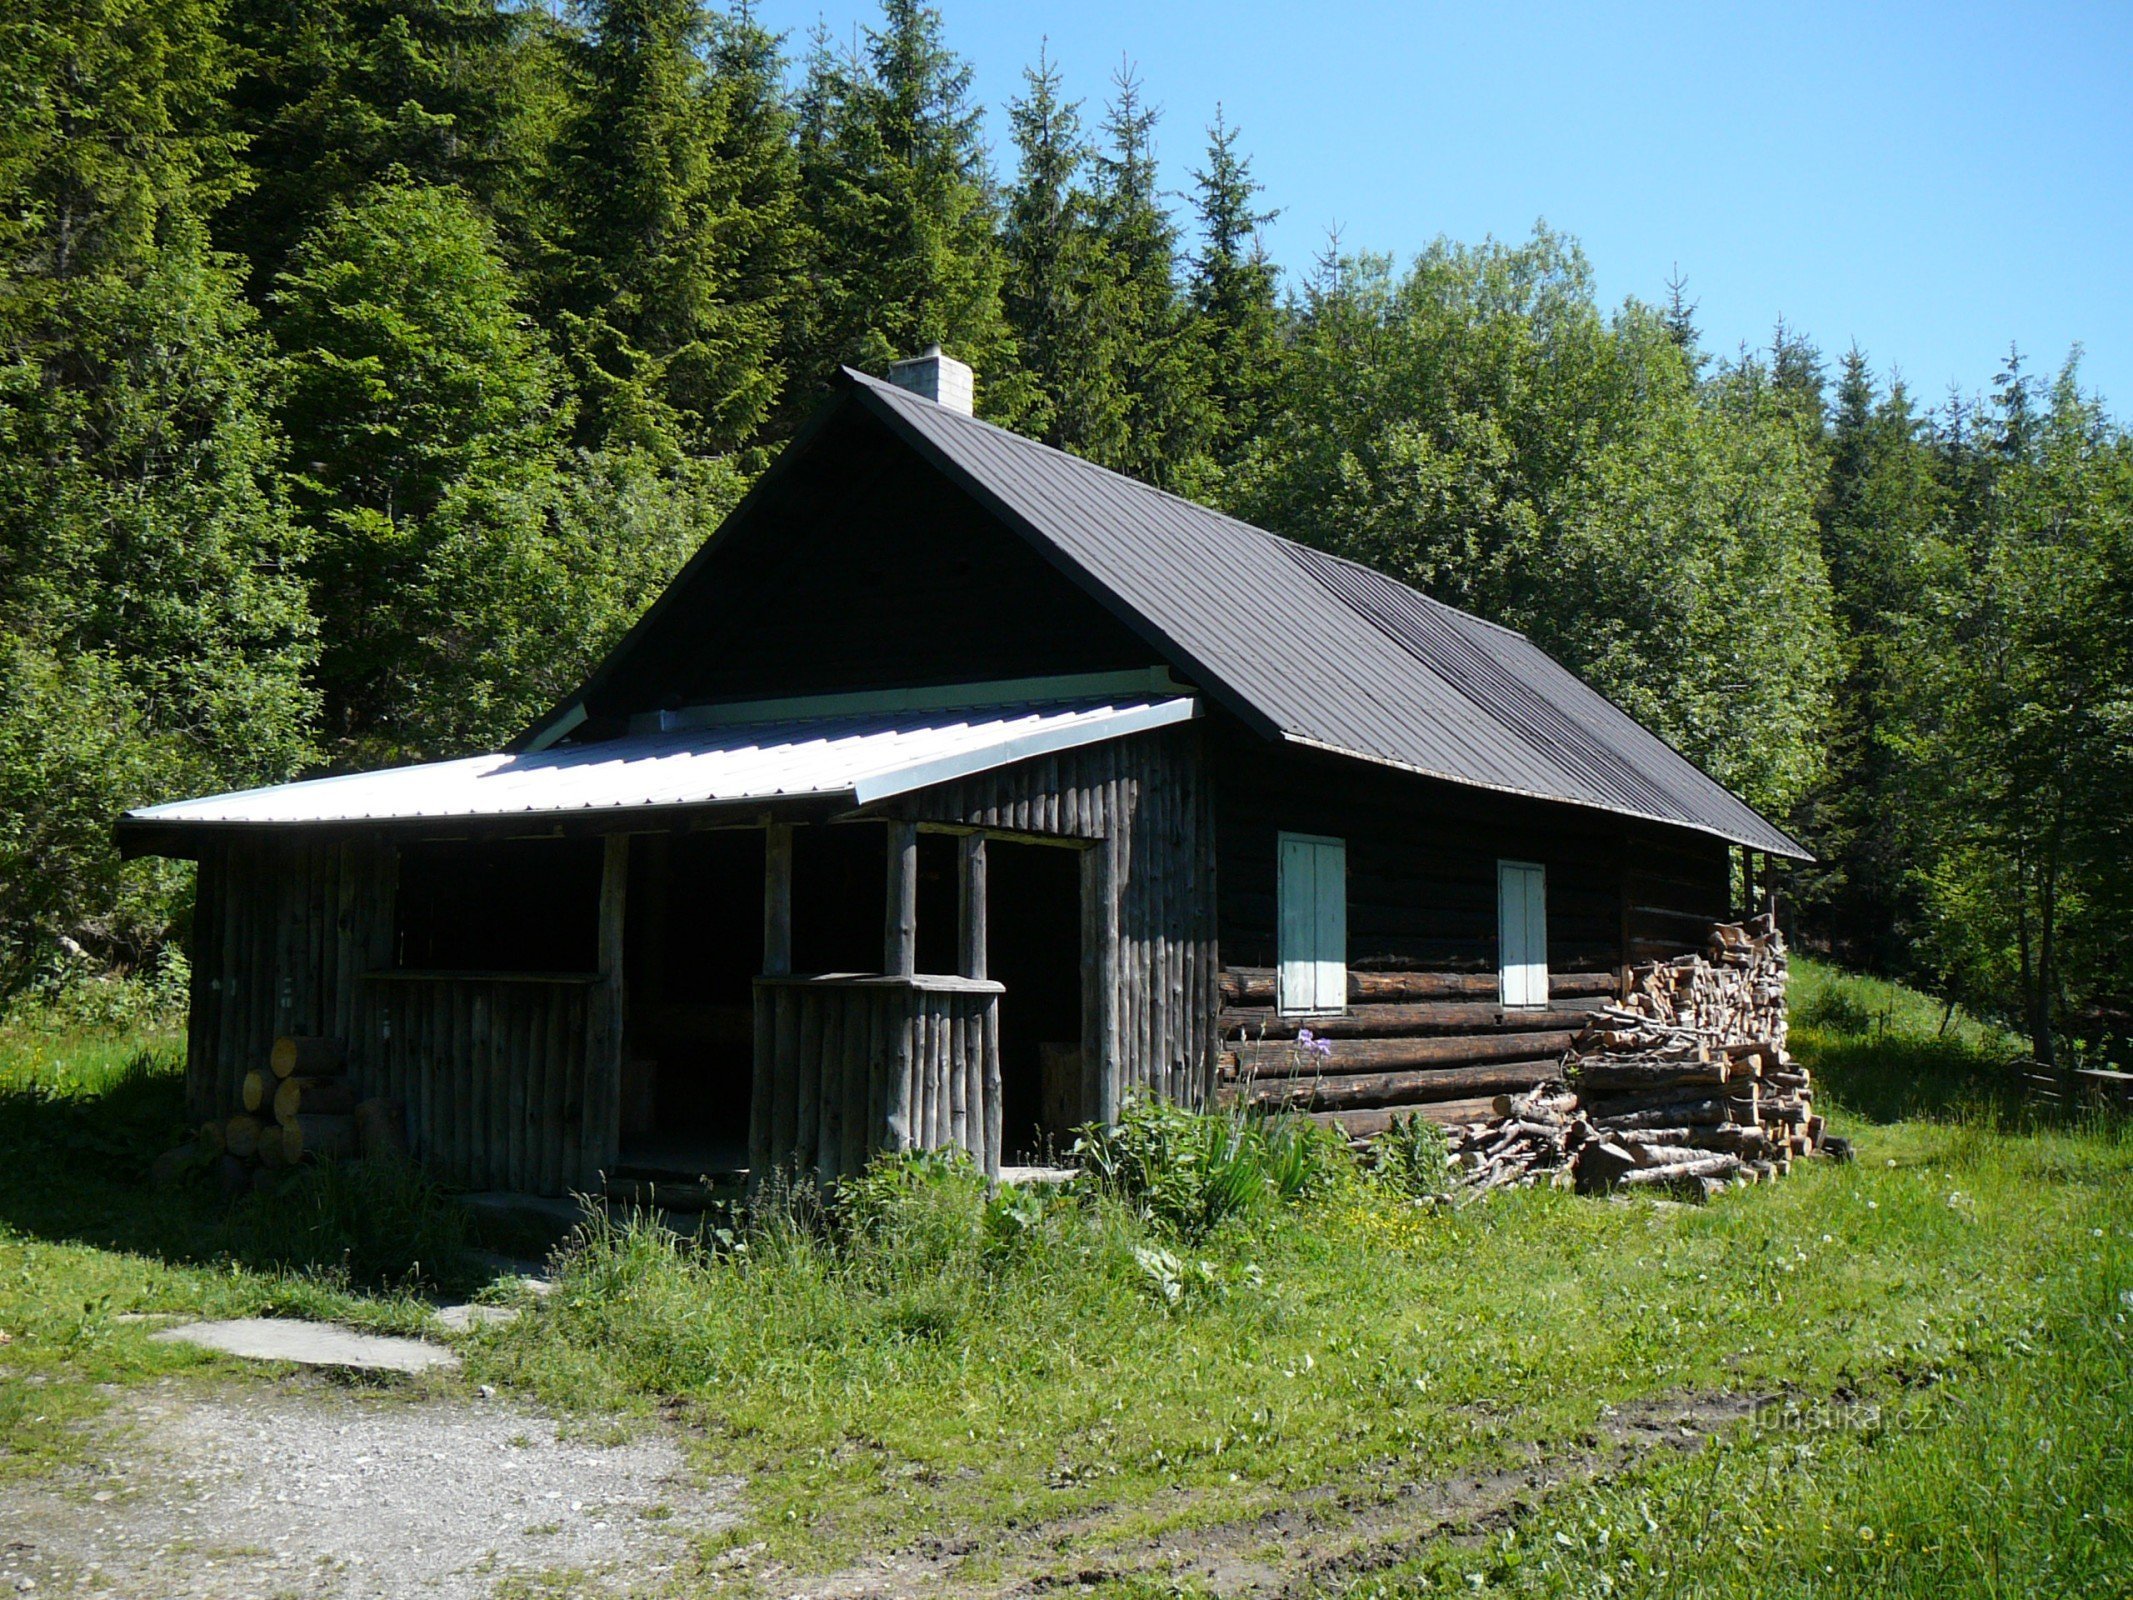
{"type": "MultiPolygon", "coordinates": [[[[610,847],[612,849],[612,847],[610,847]]],[[[599,973],[395,973],[399,853],[258,834],[201,858],[186,1092],[228,1116],[277,1035],[339,1039],[358,1092],[401,1101],[446,1182],[544,1195],[614,1165],[621,1043],[599,973]]]]}

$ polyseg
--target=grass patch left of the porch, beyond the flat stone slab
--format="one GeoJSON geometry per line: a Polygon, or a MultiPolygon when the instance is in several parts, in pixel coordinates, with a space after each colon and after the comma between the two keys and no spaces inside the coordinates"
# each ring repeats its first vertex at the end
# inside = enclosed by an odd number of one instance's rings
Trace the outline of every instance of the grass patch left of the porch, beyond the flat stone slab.
{"type": "Polygon", "coordinates": [[[79,1455],[109,1385],[211,1367],[137,1316],[328,1316],[418,1331],[427,1252],[456,1207],[326,1169],[237,1203],[149,1188],[186,1139],[183,1037],[15,1024],[0,1033],[0,1476],[79,1455]]]}

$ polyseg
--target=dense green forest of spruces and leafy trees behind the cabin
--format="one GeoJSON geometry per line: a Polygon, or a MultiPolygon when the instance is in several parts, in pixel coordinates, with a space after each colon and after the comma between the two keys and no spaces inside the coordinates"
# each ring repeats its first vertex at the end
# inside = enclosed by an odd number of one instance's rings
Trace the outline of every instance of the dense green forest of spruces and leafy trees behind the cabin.
{"type": "Polygon", "coordinates": [[[838,365],[939,341],[994,422],[1529,631],[1815,851],[1811,947],[2120,1050],[2133,437],[2078,350],[1711,350],[1544,224],[1286,277],[1218,109],[1039,55],[988,149],[917,0],[58,0],[0,62],[4,1005],[179,994],[119,811],[508,738],[838,365]]]}

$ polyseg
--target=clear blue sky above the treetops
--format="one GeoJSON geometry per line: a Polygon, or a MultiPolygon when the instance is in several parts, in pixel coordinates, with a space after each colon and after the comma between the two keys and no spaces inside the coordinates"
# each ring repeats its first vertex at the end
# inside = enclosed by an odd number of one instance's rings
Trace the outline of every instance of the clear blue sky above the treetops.
{"type": "MultiPolygon", "coordinates": [[[[1672,271],[1715,350],[1775,318],[1854,341],[1937,403],[2082,343],[2133,416],[2133,4],[1389,4],[943,0],[996,164],[1049,38],[1094,113],[1122,58],[1162,107],[1184,190],[1216,102],[1282,218],[1293,273],[1327,230],[1412,256],[1438,235],[1572,233],[1600,294],[1672,271]]],[[[759,0],[798,53],[872,0],[759,0]]]]}

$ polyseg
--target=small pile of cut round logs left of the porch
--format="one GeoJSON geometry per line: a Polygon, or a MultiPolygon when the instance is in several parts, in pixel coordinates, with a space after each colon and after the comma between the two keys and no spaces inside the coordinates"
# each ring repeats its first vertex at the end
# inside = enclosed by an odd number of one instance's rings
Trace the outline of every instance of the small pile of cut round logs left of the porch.
{"type": "Polygon", "coordinates": [[[273,1041],[264,1071],[250,1071],[241,1109],[211,1118],[190,1146],[156,1158],[154,1178],[213,1169],[224,1190],[269,1188],[286,1169],[320,1156],[405,1156],[397,1101],[363,1099],[333,1039],[273,1041]]]}

